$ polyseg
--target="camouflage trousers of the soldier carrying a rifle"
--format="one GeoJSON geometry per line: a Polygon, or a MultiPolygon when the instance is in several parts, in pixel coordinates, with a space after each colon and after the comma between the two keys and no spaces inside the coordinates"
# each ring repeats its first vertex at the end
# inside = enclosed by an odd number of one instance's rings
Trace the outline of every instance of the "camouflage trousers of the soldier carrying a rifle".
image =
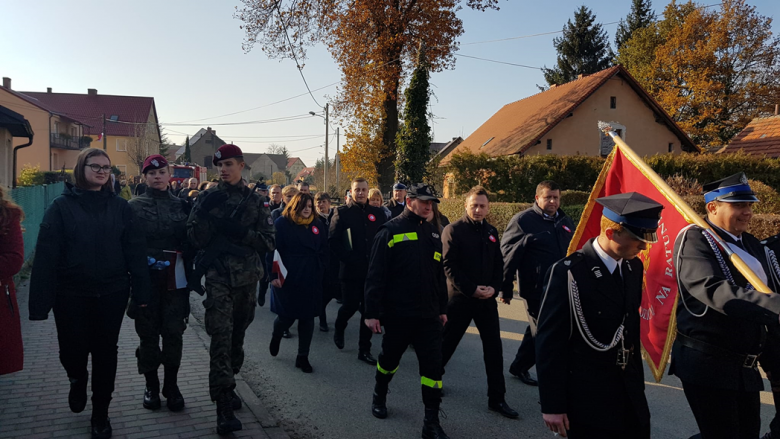
{"type": "Polygon", "coordinates": [[[234,375],[244,364],[244,334],[255,319],[257,283],[241,287],[206,279],[206,332],[211,336],[209,394],[216,401],[220,393],[236,387],[234,375]]]}

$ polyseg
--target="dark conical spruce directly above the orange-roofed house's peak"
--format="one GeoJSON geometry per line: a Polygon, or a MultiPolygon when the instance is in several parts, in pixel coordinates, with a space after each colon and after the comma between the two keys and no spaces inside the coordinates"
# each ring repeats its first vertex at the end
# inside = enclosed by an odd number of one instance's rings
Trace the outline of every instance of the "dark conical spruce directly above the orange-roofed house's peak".
{"type": "Polygon", "coordinates": [[[607,32],[595,21],[596,16],[583,5],[574,13],[574,23],[569,20],[563,26],[563,35],[553,40],[558,65],[542,69],[548,84],[565,84],[579,74],[589,75],[611,65],[607,32]]]}

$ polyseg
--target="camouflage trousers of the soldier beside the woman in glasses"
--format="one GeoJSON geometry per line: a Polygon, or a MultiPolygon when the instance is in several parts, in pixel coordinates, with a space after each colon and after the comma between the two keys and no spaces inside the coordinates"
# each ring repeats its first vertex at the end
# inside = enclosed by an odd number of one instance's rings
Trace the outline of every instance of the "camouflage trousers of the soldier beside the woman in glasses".
{"type": "Polygon", "coordinates": [[[131,302],[128,309],[128,316],[135,319],[135,332],[141,339],[135,351],[140,374],[155,371],[160,364],[166,368],[179,368],[182,334],[190,316],[189,291],[168,291],[167,283],[155,278],[152,278],[152,285],[149,305],[138,308],[131,302]]]}

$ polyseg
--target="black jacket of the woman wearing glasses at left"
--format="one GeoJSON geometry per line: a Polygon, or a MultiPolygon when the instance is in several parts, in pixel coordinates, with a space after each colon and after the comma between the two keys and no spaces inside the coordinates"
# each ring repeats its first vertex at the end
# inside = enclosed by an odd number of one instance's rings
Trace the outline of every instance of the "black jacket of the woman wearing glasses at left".
{"type": "Polygon", "coordinates": [[[45,320],[56,296],[100,297],[131,289],[149,302],[146,240],[130,205],[113,192],[65,183],[46,209],[30,278],[30,319],[45,320]]]}

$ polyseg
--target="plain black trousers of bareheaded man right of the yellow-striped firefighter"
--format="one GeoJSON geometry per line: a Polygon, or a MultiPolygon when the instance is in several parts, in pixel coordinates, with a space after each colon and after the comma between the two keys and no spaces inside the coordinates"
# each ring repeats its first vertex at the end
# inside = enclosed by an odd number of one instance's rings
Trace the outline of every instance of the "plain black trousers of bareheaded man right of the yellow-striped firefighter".
{"type": "Polygon", "coordinates": [[[447,324],[444,326],[441,348],[442,365],[446,366],[471,321],[477,325],[482,339],[482,358],[488,378],[488,398],[501,402],[506,393],[504,382],[504,353],[498,320],[498,302],[495,299],[472,299],[457,295],[447,306],[447,324]]]}

